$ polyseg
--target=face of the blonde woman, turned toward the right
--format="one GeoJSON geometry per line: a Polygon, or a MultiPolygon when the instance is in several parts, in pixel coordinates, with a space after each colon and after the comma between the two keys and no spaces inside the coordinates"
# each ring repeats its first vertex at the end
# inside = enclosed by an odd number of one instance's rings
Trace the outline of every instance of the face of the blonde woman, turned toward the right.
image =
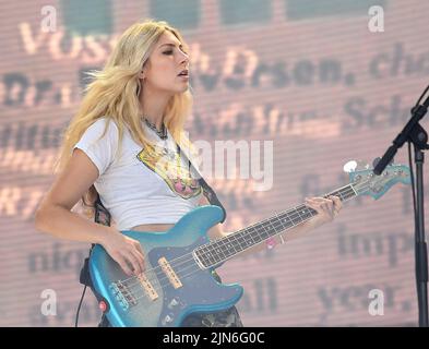
{"type": "Polygon", "coordinates": [[[144,88],[155,92],[182,93],[188,89],[189,75],[178,74],[189,69],[189,57],[179,39],[170,32],[164,33],[143,68],[144,88]]]}

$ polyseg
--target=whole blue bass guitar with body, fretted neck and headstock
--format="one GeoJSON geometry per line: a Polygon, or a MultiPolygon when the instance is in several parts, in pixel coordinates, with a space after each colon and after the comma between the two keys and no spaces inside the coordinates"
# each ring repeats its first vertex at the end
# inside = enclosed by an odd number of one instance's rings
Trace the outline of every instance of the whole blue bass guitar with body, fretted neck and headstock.
{"type": "MultiPolygon", "coordinates": [[[[343,202],[358,195],[377,200],[396,182],[409,183],[409,169],[390,165],[381,176],[374,176],[367,167],[350,171],[349,179],[348,185],[324,196],[336,195],[343,202]]],[[[90,258],[91,278],[112,326],[180,326],[191,313],[223,311],[240,299],[242,287],[217,282],[212,270],[314,215],[315,210],[301,204],[210,241],[206,231],[223,219],[223,210],[200,206],[166,232],[122,231],[142,245],[143,274],[127,276],[102,245],[95,245],[90,258]]]]}

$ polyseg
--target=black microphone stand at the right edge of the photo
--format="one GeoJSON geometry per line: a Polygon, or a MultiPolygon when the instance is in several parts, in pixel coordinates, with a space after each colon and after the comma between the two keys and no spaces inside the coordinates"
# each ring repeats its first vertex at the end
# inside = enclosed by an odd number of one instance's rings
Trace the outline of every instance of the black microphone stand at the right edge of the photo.
{"type": "MultiPolygon", "coordinates": [[[[393,141],[381,160],[377,164],[373,172],[380,176],[388,164],[391,163],[397,149],[405,141],[414,144],[417,178],[417,212],[415,212],[415,261],[416,261],[416,284],[418,299],[418,320],[420,327],[428,327],[428,252],[425,241],[425,208],[424,208],[424,149],[429,149],[428,133],[418,123],[426,115],[429,107],[429,97],[422,105],[417,105],[412,109],[412,118],[402,132],[393,141]]],[[[414,189],[413,189],[414,190],[414,189]]]]}

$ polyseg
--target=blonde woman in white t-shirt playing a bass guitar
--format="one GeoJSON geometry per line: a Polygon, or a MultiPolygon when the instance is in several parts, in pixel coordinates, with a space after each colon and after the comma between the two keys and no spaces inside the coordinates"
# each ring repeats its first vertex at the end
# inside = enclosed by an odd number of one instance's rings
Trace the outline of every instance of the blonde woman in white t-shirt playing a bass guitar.
{"type": "MultiPolygon", "coordinates": [[[[122,34],[103,71],[92,73],[95,79],[65,131],[59,174],[36,213],[38,230],[98,243],[127,275],[139,275],[144,270],[142,248],[120,231],[166,231],[195,206],[208,204],[181,157],[178,163],[177,144],[191,149],[183,124],[192,95],[188,76],[180,74],[189,70],[187,48],[166,22],[136,23],[122,34]],[[114,225],[72,212],[78,202],[94,207],[98,195],[114,225]]],[[[294,228],[287,239],[332,220],[341,209],[337,197],[314,197],[307,204],[319,215],[294,228]]],[[[87,215],[93,217],[94,210],[87,215]]],[[[217,225],[208,234],[216,239],[226,232],[217,225]]],[[[277,239],[269,246],[286,240],[277,239]]],[[[106,318],[102,325],[108,325],[106,318]]],[[[235,308],[190,315],[182,325],[242,326],[235,308]]]]}

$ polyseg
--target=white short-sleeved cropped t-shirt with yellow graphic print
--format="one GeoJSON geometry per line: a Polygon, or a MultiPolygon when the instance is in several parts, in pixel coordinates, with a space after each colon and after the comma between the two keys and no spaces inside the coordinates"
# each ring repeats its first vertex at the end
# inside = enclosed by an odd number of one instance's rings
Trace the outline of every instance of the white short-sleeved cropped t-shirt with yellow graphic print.
{"type": "Polygon", "coordinates": [[[107,118],[94,122],[74,146],[98,168],[94,186],[119,230],[144,224],[176,224],[198,206],[203,192],[195,176],[190,176],[171,134],[168,132],[168,139],[162,141],[142,124],[154,147],[143,148],[124,128],[121,153],[115,156],[119,131],[107,118]],[[106,134],[100,139],[106,123],[106,134]]]}

